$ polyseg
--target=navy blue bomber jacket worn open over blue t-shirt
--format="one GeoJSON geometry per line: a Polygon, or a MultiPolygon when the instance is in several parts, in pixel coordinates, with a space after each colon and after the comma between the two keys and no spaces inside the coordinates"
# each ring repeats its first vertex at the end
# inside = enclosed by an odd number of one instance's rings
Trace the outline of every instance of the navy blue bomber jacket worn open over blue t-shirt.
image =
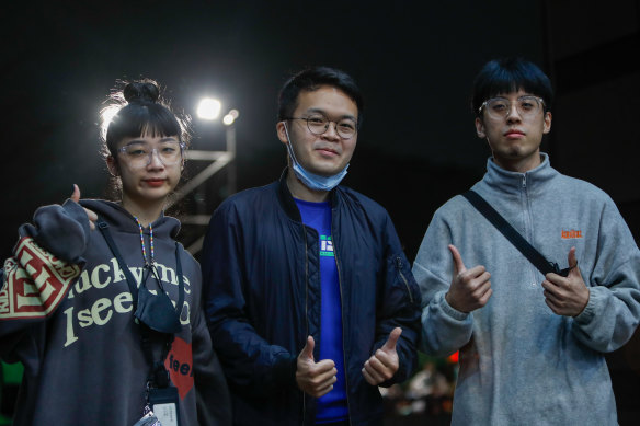
{"type": "MultiPolygon", "coordinates": [[[[236,425],[312,425],[316,416],[316,399],[299,390],[295,371],[308,335],[319,360],[318,232],[302,224],[285,176],[226,199],[204,244],[205,311],[236,425]]],[[[361,370],[400,326],[400,368],[384,385],[409,378],[420,291],[387,211],[343,186],[332,191],[331,203],[351,424],[381,425],[380,393],[361,370]]]]}

